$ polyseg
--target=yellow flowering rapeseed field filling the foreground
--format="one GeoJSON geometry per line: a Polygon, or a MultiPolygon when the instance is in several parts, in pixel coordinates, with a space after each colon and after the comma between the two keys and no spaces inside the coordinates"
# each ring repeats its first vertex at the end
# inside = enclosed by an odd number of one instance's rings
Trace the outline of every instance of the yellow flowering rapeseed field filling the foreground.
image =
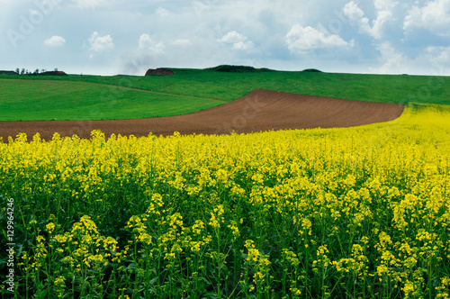
{"type": "Polygon", "coordinates": [[[17,298],[449,298],[448,107],[347,129],[4,141],[17,298]]]}

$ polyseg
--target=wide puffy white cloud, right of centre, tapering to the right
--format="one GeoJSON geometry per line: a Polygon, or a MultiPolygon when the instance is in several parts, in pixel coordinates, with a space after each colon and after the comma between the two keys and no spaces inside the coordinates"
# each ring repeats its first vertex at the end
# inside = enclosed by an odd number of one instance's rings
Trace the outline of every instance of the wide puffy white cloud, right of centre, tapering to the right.
{"type": "Polygon", "coordinates": [[[311,26],[302,27],[299,24],[294,25],[291,31],[287,33],[286,42],[288,49],[291,50],[291,52],[322,48],[351,47],[353,45],[353,41],[344,41],[337,34],[327,34],[326,32],[321,32],[311,26]]]}

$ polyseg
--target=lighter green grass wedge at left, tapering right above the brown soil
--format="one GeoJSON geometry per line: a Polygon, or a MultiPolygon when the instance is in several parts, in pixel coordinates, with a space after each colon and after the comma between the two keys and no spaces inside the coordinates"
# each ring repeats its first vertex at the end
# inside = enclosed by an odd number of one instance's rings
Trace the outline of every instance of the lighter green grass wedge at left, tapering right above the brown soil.
{"type": "Polygon", "coordinates": [[[0,80],[0,121],[130,119],[208,109],[222,102],[118,86],[57,80],[0,80]]]}

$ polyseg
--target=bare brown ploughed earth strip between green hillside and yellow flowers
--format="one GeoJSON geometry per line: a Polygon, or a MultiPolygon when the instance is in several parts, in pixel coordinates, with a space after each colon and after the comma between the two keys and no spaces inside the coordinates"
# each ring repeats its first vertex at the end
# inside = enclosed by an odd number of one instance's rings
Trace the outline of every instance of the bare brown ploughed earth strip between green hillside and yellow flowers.
{"type": "Polygon", "coordinates": [[[147,136],[181,134],[227,134],[283,129],[350,127],[374,122],[388,122],[403,112],[401,104],[359,102],[311,95],[296,95],[257,89],[234,102],[197,113],[134,120],[0,122],[0,137],[7,140],[24,132],[28,140],[36,133],[51,140],[53,133],[62,137],[76,134],[90,138],[101,130],[105,136],[147,136]]]}

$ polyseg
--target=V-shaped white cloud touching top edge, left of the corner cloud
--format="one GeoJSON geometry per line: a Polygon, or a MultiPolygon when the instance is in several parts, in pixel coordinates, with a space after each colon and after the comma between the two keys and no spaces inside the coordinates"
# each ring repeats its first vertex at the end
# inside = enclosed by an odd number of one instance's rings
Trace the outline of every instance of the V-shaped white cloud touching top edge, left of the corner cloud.
{"type": "Polygon", "coordinates": [[[364,17],[364,11],[353,1],[344,6],[343,13],[350,20],[359,23],[361,32],[381,40],[384,36],[384,24],[393,21],[392,11],[398,4],[398,2],[393,2],[392,0],[374,0],[376,19],[373,20],[372,26],[369,19],[364,17]]]}

